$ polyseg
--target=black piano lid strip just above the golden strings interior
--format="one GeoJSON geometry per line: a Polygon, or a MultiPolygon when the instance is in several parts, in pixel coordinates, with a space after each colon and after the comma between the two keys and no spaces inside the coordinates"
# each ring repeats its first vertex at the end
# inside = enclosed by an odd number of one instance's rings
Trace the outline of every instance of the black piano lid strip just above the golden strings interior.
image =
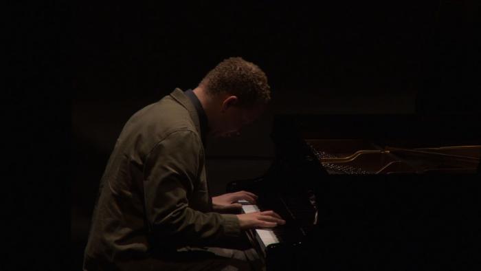
{"type": "Polygon", "coordinates": [[[273,141],[287,138],[375,141],[381,147],[481,144],[481,114],[276,115],[273,141]]]}

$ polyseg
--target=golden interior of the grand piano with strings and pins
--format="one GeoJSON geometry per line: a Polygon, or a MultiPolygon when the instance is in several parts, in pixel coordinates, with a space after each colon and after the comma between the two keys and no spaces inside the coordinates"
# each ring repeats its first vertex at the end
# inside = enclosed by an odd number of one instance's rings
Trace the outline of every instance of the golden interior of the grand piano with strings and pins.
{"type": "Polygon", "coordinates": [[[405,148],[361,139],[304,139],[329,174],[476,173],[481,146],[405,148]]]}

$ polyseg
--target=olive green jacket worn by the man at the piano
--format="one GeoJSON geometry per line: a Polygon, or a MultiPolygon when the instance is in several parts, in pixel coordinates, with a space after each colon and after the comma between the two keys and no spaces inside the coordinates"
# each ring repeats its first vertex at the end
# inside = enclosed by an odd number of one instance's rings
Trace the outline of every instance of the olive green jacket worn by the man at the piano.
{"type": "Polygon", "coordinates": [[[125,124],[100,182],[84,270],[238,237],[236,215],[212,212],[194,105],[175,89],[125,124]]]}

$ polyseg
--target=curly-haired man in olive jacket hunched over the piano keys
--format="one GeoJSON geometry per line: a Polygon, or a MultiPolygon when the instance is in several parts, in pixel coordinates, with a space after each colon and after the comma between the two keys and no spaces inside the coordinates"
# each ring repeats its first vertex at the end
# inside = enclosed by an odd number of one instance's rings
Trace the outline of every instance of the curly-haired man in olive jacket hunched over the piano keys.
{"type": "Polygon", "coordinates": [[[219,247],[285,221],[273,211],[238,214],[239,200],[256,203],[253,193],[209,196],[205,138],[237,134],[269,100],[264,72],[236,57],[195,89],[137,111],[102,176],[83,270],[250,269],[254,250],[219,247]]]}

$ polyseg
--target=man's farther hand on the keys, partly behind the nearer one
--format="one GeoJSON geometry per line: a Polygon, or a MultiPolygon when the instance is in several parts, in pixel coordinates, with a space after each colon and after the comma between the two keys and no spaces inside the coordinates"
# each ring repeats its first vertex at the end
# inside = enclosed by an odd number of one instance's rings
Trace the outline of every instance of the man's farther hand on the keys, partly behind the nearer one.
{"type": "Polygon", "coordinates": [[[240,199],[256,204],[257,195],[247,191],[238,191],[212,197],[212,208],[219,213],[238,213],[242,208],[242,204],[238,203],[240,199]]]}

